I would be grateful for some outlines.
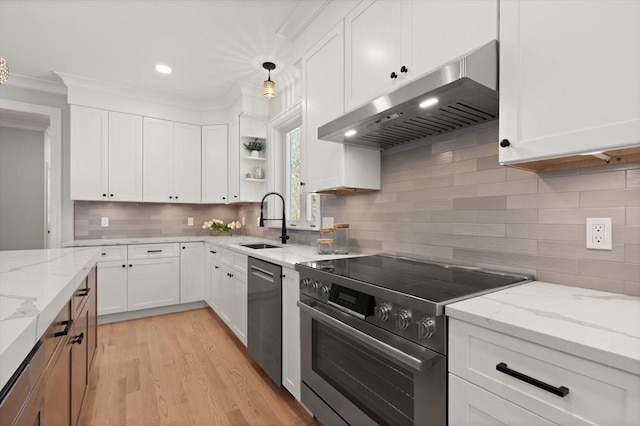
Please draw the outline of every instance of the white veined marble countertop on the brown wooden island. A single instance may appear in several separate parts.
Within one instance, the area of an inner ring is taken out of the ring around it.
[[[0,388],[98,259],[93,247],[0,251]]]

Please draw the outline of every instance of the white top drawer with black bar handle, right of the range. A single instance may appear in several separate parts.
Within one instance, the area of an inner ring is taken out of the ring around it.
[[[640,424],[639,376],[454,318],[449,371],[552,422]],[[512,371],[568,393],[555,395]]]

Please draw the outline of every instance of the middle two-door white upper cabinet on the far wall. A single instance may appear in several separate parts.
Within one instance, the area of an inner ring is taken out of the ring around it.
[[[144,118],[143,200],[199,203],[200,127]]]

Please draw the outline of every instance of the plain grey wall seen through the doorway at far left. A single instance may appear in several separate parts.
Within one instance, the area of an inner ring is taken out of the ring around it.
[[[0,250],[44,248],[44,189],[44,133],[0,127]]]

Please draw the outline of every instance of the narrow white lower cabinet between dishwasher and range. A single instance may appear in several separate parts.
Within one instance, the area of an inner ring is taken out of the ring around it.
[[[282,385],[300,401],[300,273],[282,268]]]

